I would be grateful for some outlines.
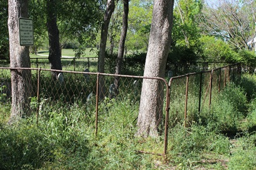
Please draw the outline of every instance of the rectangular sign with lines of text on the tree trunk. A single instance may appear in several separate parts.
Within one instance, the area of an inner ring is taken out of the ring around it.
[[[34,45],[34,29],[32,19],[19,18],[19,44]]]

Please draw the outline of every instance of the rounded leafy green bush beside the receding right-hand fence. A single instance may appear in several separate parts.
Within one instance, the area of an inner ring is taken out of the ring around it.
[[[231,83],[212,99],[210,110],[204,110],[200,118],[203,124],[215,131],[235,133],[240,129],[240,121],[245,118],[246,111],[244,91]]]

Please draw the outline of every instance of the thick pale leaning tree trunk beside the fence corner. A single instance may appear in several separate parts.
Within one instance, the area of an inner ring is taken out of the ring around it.
[[[144,77],[164,77],[170,49],[174,0],[155,0]],[[144,79],[137,120],[139,136],[157,136],[163,95],[159,80]]]

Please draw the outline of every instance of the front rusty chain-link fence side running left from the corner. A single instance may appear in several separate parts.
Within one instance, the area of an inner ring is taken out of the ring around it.
[[[160,81],[162,87],[159,89],[162,92],[159,93],[164,93],[165,98],[160,105],[163,106],[164,115],[167,115],[166,107],[168,106],[166,101],[169,88],[168,82],[164,78],[50,70],[46,68],[0,67],[0,83],[2,87],[0,91],[6,94],[6,101],[4,102],[11,102],[11,72],[16,72],[17,70],[31,71],[31,78],[24,79],[29,80],[29,92],[27,93],[29,93],[31,102],[33,100],[31,111],[36,114],[37,122],[40,120],[41,115],[46,115],[46,112],[54,109],[57,103],[62,103],[62,105],[66,106],[79,103],[86,108],[84,115],[95,114],[95,134],[97,135],[98,126],[104,122],[107,112],[111,110],[106,105],[111,105],[112,100],[120,102],[129,100],[130,108],[135,113],[134,120],[130,123],[135,126],[135,123],[137,123],[135,120],[137,120],[137,114],[139,113],[142,82],[145,79]],[[58,77],[52,77],[52,72],[58,72]],[[22,72],[20,73],[22,75]],[[103,80],[103,85],[101,85],[101,80]],[[117,84],[115,83],[116,80],[118,80]],[[58,108],[55,109],[57,110]],[[128,112],[127,116],[130,116]]]

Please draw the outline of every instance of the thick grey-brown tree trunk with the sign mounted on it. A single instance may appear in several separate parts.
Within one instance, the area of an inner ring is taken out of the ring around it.
[[[19,17],[28,17],[27,0],[8,1],[10,66],[30,68],[29,47],[19,44]],[[12,108],[9,123],[31,115],[29,92],[31,70],[11,70]]]

